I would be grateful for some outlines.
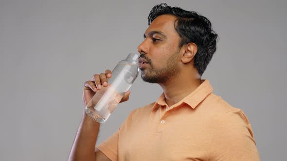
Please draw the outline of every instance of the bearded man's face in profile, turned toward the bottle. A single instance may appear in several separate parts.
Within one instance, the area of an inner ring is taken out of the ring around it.
[[[176,17],[161,15],[144,32],[138,51],[146,64],[140,66],[143,81],[164,83],[179,73],[179,35],[174,28]]]

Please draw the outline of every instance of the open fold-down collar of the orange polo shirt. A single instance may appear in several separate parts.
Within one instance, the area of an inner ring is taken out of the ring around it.
[[[191,108],[195,109],[200,102],[202,102],[209,94],[212,93],[212,91],[213,87],[210,85],[210,82],[208,80],[202,80],[201,84],[197,87],[195,91],[181,99],[178,103],[172,105],[170,108],[177,107],[182,104],[182,102],[184,102]],[[158,98],[158,100],[155,102],[155,104],[150,110],[158,108],[159,105],[167,106],[164,93],[161,94],[161,96]]]

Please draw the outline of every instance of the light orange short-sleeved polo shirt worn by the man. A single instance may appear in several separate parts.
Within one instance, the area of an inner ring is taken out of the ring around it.
[[[203,80],[171,107],[162,94],[97,148],[112,161],[260,161],[247,116],[212,91]]]

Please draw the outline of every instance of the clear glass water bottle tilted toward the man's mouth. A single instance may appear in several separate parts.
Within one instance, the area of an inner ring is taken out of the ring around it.
[[[108,86],[102,86],[91,98],[86,106],[86,113],[100,123],[107,121],[110,114],[119,104],[125,93],[139,74],[140,56],[130,53],[125,60],[120,61],[112,70],[112,77],[108,79]]]

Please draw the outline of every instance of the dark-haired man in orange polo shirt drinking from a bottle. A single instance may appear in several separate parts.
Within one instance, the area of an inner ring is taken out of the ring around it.
[[[214,95],[208,80],[201,80],[216,50],[217,34],[210,21],[162,3],[151,10],[148,22],[138,47],[145,62],[141,76],[158,83],[162,95],[132,111],[95,151],[100,124],[84,113],[70,160],[259,161],[246,115]],[[85,82],[85,105],[110,77],[106,70]]]

